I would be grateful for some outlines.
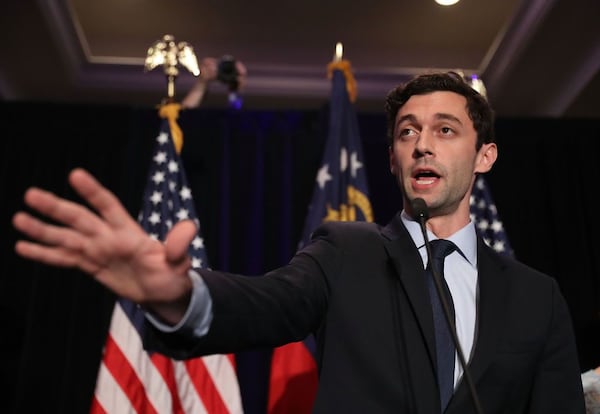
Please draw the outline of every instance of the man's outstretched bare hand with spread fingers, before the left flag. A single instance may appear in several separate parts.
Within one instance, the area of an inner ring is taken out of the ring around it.
[[[118,296],[177,323],[192,289],[187,252],[196,233],[194,223],[177,223],[163,243],[150,238],[87,171],[73,170],[69,182],[93,210],[39,188],[28,189],[25,203],[53,222],[17,212],[13,224],[30,240],[17,241],[16,252],[48,265],[81,269]]]

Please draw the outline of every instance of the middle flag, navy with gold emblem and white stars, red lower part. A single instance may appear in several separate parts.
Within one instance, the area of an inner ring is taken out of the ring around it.
[[[325,221],[373,221],[358,120],[348,89],[355,87],[348,61],[329,65],[332,76],[329,134],[317,172],[300,247]],[[350,87],[348,87],[350,85]],[[313,336],[273,351],[269,414],[308,414],[317,389]]]

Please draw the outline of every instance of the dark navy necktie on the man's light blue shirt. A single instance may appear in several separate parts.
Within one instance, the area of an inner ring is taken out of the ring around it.
[[[442,287],[446,295],[448,307],[451,311],[451,319],[454,320],[454,305],[452,302],[452,295],[448,290],[446,281],[444,280],[444,259],[457,247],[454,243],[449,240],[432,240],[431,241],[431,261],[427,265],[426,273],[429,284],[429,295],[431,297],[431,306],[433,310],[433,322],[435,329],[435,346],[436,346],[436,357],[437,357],[437,375],[438,384],[440,387],[440,401],[442,406],[442,412],[446,409],[448,401],[454,392],[454,355],[456,348],[452,340],[452,334],[450,328],[446,322],[444,316],[444,309],[435,288],[435,282],[433,280],[433,273],[430,267],[435,266],[438,275],[440,276]]]

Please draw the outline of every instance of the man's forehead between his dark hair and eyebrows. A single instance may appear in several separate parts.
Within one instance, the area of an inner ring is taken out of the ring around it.
[[[449,91],[413,95],[400,108],[396,120],[412,115],[417,120],[425,121],[439,114],[452,115],[463,123],[468,122],[467,98]]]

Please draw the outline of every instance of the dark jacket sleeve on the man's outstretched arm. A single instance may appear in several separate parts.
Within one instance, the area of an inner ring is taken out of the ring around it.
[[[329,295],[326,273],[337,248],[317,238],[286,266],[261,276],[198,271],[212,300],[208,333],[162,332],[146,323],[144,346],[176,359],[300,341],[319,328]]]

